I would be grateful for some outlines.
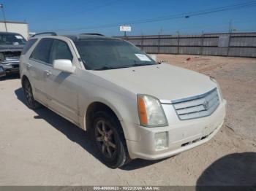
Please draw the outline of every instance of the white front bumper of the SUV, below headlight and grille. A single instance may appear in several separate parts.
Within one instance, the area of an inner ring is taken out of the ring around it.
[[[146,128],[138,126],[140,141],[127,140],[132,159],[158,160],[177,155],[209,141],[222,127],[226,101],[208,117],[178,120],[171,104],[163,106],[169,126]]]

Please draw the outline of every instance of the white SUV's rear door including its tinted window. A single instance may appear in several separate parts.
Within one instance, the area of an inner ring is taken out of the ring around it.
[[[29,58],[29,74],[34,82],[34,97],[47,105],[46,77],[50,74],[50,49],[53,39],[41,39]]]

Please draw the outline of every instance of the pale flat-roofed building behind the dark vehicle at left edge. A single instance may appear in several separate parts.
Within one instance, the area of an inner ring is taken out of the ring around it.
[[[0,31],[18,33],[25,39],[29,39],[29,25],[26,22],[0,20]]]

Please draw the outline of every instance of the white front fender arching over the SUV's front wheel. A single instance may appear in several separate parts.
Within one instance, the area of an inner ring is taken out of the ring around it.
[[[110,109],[115,112],[118,120],[124,125],[133,125],[129,130],[123,128],[126,139],[134,141],[139,140],[139,135],[134,126],[134,123],[139,123],[136,95],[129,92],[129,90],[126,90],[124,87],[119,87],[113,82],[108,82],[98,77],[91,71],[78,69],[78,72],[80,76],[78,106],[81,115],[80,124],[83,125],[82,128],[86,129],[85,116],[89,105],[99,102],[109,106]]]

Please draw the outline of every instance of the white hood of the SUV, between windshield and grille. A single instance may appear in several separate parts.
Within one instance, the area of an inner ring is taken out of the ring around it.
[[[209,77],[167,63],[94,71],[135,94],[153,95],[162,102],[200,95],[217,85]]]

